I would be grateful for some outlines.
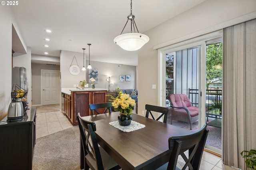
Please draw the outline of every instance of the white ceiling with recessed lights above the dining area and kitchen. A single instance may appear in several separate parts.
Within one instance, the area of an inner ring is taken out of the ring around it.
[[[139,32],[144,33],[203,1],[133,0],[132,14]],[[87,43],[91,43],[91,61],[138,64],[137,51],[125,51],[113,42],[130,14],[130,0],[22,0],[18,3],[11,8],[32,54],[45,55],[47,51],[48,56],[60,57],[61,50],[83,53],[82,48],[86,48],[88,60]],[[46,29],[52,33],[45,32]],[[130,25],[123,33],[128,32]],[[44,47],[46,44],[49,47]]]

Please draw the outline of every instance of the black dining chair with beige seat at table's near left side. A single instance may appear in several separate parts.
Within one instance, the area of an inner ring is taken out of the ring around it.
[[[89,170],[89,168],[92,170],[119,170],[120,166],[101,146],[98,146],[95,123],[85,121],[80,113],[78,113],[77,120],[84,152],[84,170]]]

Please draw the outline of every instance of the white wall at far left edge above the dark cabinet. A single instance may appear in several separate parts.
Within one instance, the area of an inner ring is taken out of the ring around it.
[[[0,6],[0,120],[7,116],[12,91],[12,14]]]

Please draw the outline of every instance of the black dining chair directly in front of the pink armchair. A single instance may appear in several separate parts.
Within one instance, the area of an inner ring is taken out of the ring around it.
[[[162,116],[164,116],[164,121],[163,122],[164,123],[167,122],[167,114],[168,114],[169,108],[167,108],[167,107],[160,107],[160,106],[154,106],[154,105],[145,105],[145,109],[147,110],[147,112],[146,112],[146,117],[147,118],[148,118],[149,113],[150,113],[151,117],[154,120],[158,121]],[[157,119],[155,119],[151,111],[162,113],[162,114]]]

